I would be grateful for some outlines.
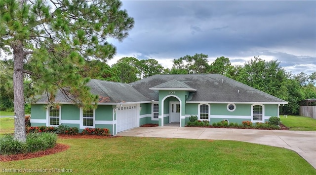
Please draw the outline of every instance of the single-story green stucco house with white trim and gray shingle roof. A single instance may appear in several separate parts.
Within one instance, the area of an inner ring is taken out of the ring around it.
[[[108,128],[115,135],[145,123],[184,127],[191,115],[210,123],[265,122],[287,104],[220,74],[154,75],[130,84],[92,79],[87,85],[99,95],[96,109],[84,111],[61,92],[53,108],[43,95],[32,104],[31,125]]]

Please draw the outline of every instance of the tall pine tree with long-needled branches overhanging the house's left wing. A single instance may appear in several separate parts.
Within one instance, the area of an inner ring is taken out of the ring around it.
[[[25,142],[24,73],[32,88],[50,101],[57,89],[79,106],[91,106],[97,96],[79,75],[85,58],[113,58],[108,37],[122,40],[134,20],[120,10],[118,0],[1,0],[0,49],[13,53],[14,138]]]

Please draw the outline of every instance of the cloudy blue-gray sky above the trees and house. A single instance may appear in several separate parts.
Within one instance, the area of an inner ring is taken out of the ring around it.
[[[278,60],[287,72],[316,71],[316,1],[123,0],[135,20],[117,55],[154,58],[171,67],[174,58],[196,53],[209,63],[224,56],[233,65],[260,56]]]

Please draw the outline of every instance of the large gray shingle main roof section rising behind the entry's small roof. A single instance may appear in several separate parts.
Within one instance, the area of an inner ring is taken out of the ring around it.
[[[172,80],[197,89],[194,94],[191,93],[192,96],[190,95],[187,101],[287,103],[275,96],[220,74],[154,75],[130,83],[130,85],[147,98],[158,101],[158,90],[149,88],[160,87],[161,84]]]

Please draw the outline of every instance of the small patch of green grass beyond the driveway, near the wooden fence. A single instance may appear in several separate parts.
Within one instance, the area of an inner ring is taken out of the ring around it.
[[[280,116],[282,124],[296,131],[316,131],[316,119],[302,116]]]

